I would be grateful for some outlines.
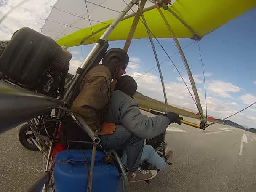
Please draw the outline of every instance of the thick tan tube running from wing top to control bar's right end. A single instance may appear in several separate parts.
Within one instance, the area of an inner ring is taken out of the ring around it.
[[[194,78],[193,78],[193,76],[192,76],[191,70],[190,70],[189,65],[188,65],[188,63],[187,63],[187,59],[186,59],[186,57],[185,57],[185,55],[184,55],[184,53],[183,53],[183,51],[182,51],[182,49],[181,49],[181,46],[180,46],[180,44],[179,44],[179,41],[177,40],[177,38],[176,38],[176,36],[175,36],[173,30],[171,29],[171,26],[170,26],[170,24],[168,23],[167,19],[166,19],[165,16],[163,15],[163,13],[162,13],[160,7],[158,6],[158,4],[156,3],[155,0],[153,0],[153,2],[155,3],[155,6],[157,7],[157,9],[158,9],[160,15],[162,16],[163,20],[165,21],[165,24],[166,24],[166,26],[168,27],[168,30],[169,30],[169,32],[171,33],[171,35],[172,35],[172,37],[173,37],[173,40],[175,41],[175,44],[176,44],[176,46],[177,46],[177,48],[178,48],[178,50],[179,50],[179,53],[180,53],[181,58],[182,58],[182,61],[183,61],[184,65],[185,65],[186,70],[187,70],[187,73],[188,73],[188,75],[189,75],[189,80],[190,80],[191,85],[192,85],[192,90],[193,90],[194,95],[195,95],[195,100],[196,100],[197,107],[198,107],[199,114],[200,114],[201,125],[202,125],[203,127],[205,127],[206,123],[205,123],[205,117],[204,117],[204,115],[203,115],[202,105],[201,105],[201,102],[200,102],[200,99],[199,99],[199,96],[198,96],[198,93],[197,93],[197,88],[196,88],[196,85],[195,85]]]

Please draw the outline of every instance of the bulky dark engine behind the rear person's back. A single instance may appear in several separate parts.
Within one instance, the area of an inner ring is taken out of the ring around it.
[[[0,42],[0,78],[23,88],[61,96],[72,55],[50,37],[28,27]]]

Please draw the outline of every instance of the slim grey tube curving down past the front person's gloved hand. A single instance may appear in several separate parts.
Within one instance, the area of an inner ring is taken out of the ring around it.
[[[152,49],[153,49],[153,52],[154,52],[154,55],[155,55],[155,60],[156,60],[156,62],[157,62],[157,67],[158,67],[158,71],[159,71],[159,75],[160,75],[160,79],[161,79],[161,83],[162,83],[162,87],[163,87],[164,98],[165,98],[165,113],[167,113],[167,112],[168,112],[168,101],[167,101],[167,96],[166,96],[166,92],[165,92],[165,84],[164,84],[164,81],[163,81],[163,75],[162,75],[161,67],[160,67],[160,64],[159,64],[159,61],[158,61],[158,57],[157,57],[157,52],[156,52],[156,50],[155,50],[155,45],[154,45],[154,42],[153,42],[153,40],[152,40],[151,33],[150,33],[149,28],[148,28],[148,26],[147,26],[146,19],[145,19],[145,17],[144,17],[144,14],[143,14],[143,12],[142,12],[141,7],[140,7],[139,4],[138,4],[138,7],[139,7],[139,10],[140,10],[140,12],[141,12],[141,17],[142,17],[142,19],[143,19],[143,22],[144,22],[144,24],[145,24],[145,27],[146,27],[146,29],[147,29],[147,33],[148,33],[148,35],[149,35],[149,40],[150,40],[150,43],[151,43],[151,46],[152,46]],[[166,135],[166,132],[164,132],[163,144],[165,143],[165,135]],[[166,149],[166,148],[164,148],[164,150],[163,150],[163,155],[165,155],[165,149]]]

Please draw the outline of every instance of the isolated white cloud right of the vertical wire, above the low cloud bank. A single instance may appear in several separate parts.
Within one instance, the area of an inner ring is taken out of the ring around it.
[[[222,80],[213,80],[208,84],[208,91],[221,97],[232,97],[229,93],[239,92],[241,91],[241,88]]]

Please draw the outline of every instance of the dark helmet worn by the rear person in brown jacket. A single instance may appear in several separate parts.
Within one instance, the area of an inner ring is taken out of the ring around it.
[[[121,48],[112,48],[109,49],[102,59],[102,64],[107,65],[106,62],[110,61],[113,57],[117,57],[121,61],[123,61],[124,64],[128,64],[129,62],[129,56],[128,54]]]

